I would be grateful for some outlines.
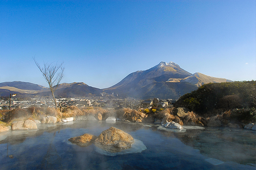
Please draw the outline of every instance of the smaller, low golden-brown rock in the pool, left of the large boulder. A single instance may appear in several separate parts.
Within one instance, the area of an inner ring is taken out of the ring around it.
[[[96,138],[97,136],[86,133],[81,136],[69,138],[69,141],[78,146],[89,146],[95,141]]]

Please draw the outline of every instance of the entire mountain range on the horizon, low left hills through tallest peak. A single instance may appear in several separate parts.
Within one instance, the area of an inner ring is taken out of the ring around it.
[[[105,89],[99,89],[80,83],[59,84],[56,97],[88,97],[101,96],[102,94],[114,94],[120,98],[178,98],[196,90],[205,83],[230,82],[231,80],[214,78],[202,73],[191,74],[173,62],[160,62],[155,67],[144,71],[133,72],[119,83]],[[0,96],[9,93],[20,95],[51,96],[49,88],[27,82],[0,83]]]

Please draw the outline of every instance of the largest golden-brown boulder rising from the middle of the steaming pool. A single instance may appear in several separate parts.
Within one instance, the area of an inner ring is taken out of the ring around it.
[[[103,131],[95,140],[95,144],[114,146],[118,149],[131,148],[134,143],[133,137],[122,130],[110,127]]]

